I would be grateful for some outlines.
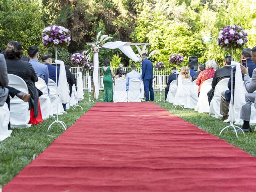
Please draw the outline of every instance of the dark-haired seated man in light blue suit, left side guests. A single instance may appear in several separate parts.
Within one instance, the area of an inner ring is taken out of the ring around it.
[[[28,57],[30,59],[29,62],[32,64],[32,67],[34,68],[36,75],[42,78],[47,85],[48,78],[49,78],[48,67],[38,62],[39,49],[36,46],[31,46],[27,49],[27,51],[28,51]]]

